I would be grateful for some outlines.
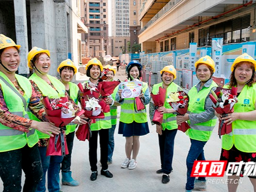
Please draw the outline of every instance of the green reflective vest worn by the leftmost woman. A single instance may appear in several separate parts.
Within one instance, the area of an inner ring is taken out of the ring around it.
[[[2,73],[0,76],[8,81],[17,92],[15,85]],[[18,84],[24,91],[24,99],[26,102],[26,111],[24,109],[24,104],[22,99],[11,89],[9,88],[2,80],[0,80],[0,85],[3,93],[4,101],[9,109],[9,112],[16,114],[20,117],[29,118],[27,111],[29,101],[32,96],[32,85],[30,81],[20,75],[15,75]],[[38,142],[38,135],[35,129],[30,128],[28,133],[23,131],[16,130],[14,128],[6,127],[0,124],[0,152],[11,151],[19,149],[28,144],[29,147],[34,146]]]

